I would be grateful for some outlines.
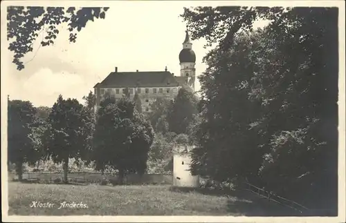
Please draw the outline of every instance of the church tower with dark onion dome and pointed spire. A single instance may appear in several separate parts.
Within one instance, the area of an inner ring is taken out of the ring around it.
[[[180,75],[181,77],[186,77],[188,80],[188,85],[195,91],[195,81],[196,81],[196,55],[192,50],[192,43],[186,30],[185,41],[183,42],[183,50],[179,53],[180,61]]]

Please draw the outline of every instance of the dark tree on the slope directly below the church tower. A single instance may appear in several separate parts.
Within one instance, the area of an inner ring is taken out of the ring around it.
[[[197,100],[194,95],[185,88],[180,88],[167,114],[170,131],[176,134],[186,133],[193,115],[197,112]]]

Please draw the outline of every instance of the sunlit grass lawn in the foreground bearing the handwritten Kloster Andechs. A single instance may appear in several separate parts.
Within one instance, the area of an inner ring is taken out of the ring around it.
[[[100,186],[8,183],[8,215],[289,215],[290,210],[246,192],[210,195],[170,186]],[[30,207],[49,202],[53,207]],[[60,208],[62,202],[86,208]],[[292,213],[291,213],[292,214]]]

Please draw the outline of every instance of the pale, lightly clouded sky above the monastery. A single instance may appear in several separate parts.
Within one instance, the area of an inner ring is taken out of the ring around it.
[[[93,86],[115,67],[119,72],[130,72],[163,71],[167,66],[168,71],[180,75],[179,52],[183,48],[186,23],[179,14],[184,6],[195,4],[117,1],[109,6],[105,19],[86,23],[75,43],[69,43],[69,32],[62,25],[54,46],[39,47],[42,32],[33,52],[23,59],[24,70],[16,70],[11,63],[12,54],[7,50],[4,62],[8,74],[7,95],[10,99],[29,100],[34,106],[52,106],[60,94],[82,102],[82,97],[93,91]],[[219,6],[220,2],[200,1],[199,5]],[[264,23],[258,21],[255,26]],[[205,39],[192,41],[197,76],[206,70],[202,59],[211,48],[203,48],[205,43]],[[197,81],[196,90],[199,88]]]

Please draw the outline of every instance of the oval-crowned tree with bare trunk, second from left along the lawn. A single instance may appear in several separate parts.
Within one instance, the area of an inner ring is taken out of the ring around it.
[[[63,163],[64,182],[68,182],[69,158],[82,157],[88,148],[88,116],[76,99],[63,99],[60,95],[49,115],[50,128],[44,143],[48,155],[55,163]]]

